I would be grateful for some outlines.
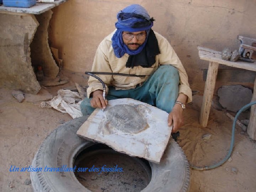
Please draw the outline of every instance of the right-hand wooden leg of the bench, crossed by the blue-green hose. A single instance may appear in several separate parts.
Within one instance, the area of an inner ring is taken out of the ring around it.
[[[256,77],[254,81],[254,92],[251,101],[256,101]],[[256,140],[256,105],[251,106],[250,121],[247,127],[247,133],[251,139]]]

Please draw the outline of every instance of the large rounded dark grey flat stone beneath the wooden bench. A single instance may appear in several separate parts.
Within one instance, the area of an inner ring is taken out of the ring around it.
[[[252,91],[242,85],[222,86],[218,90],[220,104],[229,111],[237,112],[251,102]]]

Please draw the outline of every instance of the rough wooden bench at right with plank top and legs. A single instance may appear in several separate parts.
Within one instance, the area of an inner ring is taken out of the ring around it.
[[[230,62],[227,60],[223,60],[221,57],[221,52],[204,48],[204,47],[198,47],[198,54],[200,59],[209,61],[206,85],[204,87],[203,103],[202,103],[201,113],[199,117],[201,126],[206,127],[208,118],[209,118],[210,107],[212,104],[213,92],[214,92],[219,64],[240,68],[240,69],[256,71],[256,63],[255,62],[249,63],[244,61]],[[254,81],[254,92],[252,96],[252,101],[256,101],[256,78]],[[250,122],[247,127],[247,133],[249,134],[250,138],[256,140],[256,106],[255,105],[251,107]]]

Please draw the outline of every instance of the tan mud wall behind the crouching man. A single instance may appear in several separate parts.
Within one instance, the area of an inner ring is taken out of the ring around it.
[[[50,46],[59,49],[64,69],[90,70],[98,44],[115,29],[116,13],[134,3],[155,18],[153,30],[174,47],[193,90],[204,89],[202,69],[208,68],[197,46],[221,51],[238,48],[238,34],[256,38],[256,0],[68,0],[50,21]]]

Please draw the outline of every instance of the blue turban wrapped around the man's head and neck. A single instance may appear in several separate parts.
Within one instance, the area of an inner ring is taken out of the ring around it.
[[[144,7],[133,4],[117,13],[116,32],[112,37],[112,47],[117,58],[123,57],[125,53],[136,55],[142,51],[148,40],[148,35],[153,26],[153,18],[150,18]],[[123,42],[123,31],[137,32],[146,31],[145,42],[136,50],[130,50]]]

